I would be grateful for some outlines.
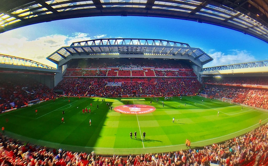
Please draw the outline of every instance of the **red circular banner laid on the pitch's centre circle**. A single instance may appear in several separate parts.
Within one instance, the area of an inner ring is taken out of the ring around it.
[[[120,105],[114,108],[114,111],[120,112],[123,114],[148,114],[155,111],[155,107],[150,105],[140,105],[140,104],[131,104],[131,105]]]

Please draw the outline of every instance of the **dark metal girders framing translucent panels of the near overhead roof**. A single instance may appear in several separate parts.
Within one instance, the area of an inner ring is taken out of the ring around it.
[[[197,8],[196,10],[192,10],[193,12],[191,12],[190,14],[183,13],[183,12],[174,12],[174,11],[167,11],[167,10],[152,9],[152,6],[157,6],[156,4],[154,4],[155,1],[152,1],[152,0],[147,1],[147,3],[131,3],[131,2],[101,3],[99,0],[94,0],[93,5],[96,6],[96,9],[79,10],[79,12],[78,12],[78,10],[65,11],[65,12],[56,12],[57,10],[53,9],[51,7],[52,5],[47,5],[43,1],[37,0],[36,2],[42,4],[44,7],[49,9],[49,11],[52,11],[53,14],[48,14],[48,15],[45,15],[45,16],[38,16],[38,17],[35,17],[35,18],[29,18],[29,19],[22,20],[22,21],[19,21],[17,23],[14,23],[14,24],[10,24],[10,25],[8,25],[8,26],[6,26],[4,28],[0,28],[0,32],[4,32],[4,31],[14,29],[14,28],[17,28],[17,27],[21,27],[21,26],[24,26],[24,25],[30,25],[30,24],[35,24],[35,23],[39,23],[39,22],[46,22],[46,21],[52,21],[52,20],[60,20],[60,19],[66,19],[66,18],[77,18],[77,17],[88,17],[88,16],[120,16],[122,13],[127,13],[128,16],[167,17],[167,18],[178,18],[178,19],[192,20],[192,21],[197,21],[197,20],[200,21],[201,20],[202,22],[206,22],[206,23],[209,23],[209,24],[219,25],[219,26],[222,26],[222,27],[228,27],[230,29],[235,29],[235,30],[241,31],[243,33],[250,34],[252,36],[256,36],[259,39],[264,40],[264,41],[267,42],[266,37],[263,37],[262,35],[258,35],[255,32],[250,31],[248,29],[244,29],[244,28],[241,28],[239,26],[230,24],[230,23],[228,23],[226,21],[225,22],[224,21],[219,21],[219,20],[215,20],[213,18],[208,18],[208,17],[203,17],[203,16],[196,16],[195,14],[192,14],[192,13],[200,12],[200,9],[202,8],[202,6],[204,7],[207,3],[215,3],[216,5],[221,5],[222,4],[222,5],[225,5],[225,6],[232,7],[233,9],[237,9],[240,12],[244,12],[245,14],[247,14],[249,12],[254,13],[253,15],[251,15],[251,17],[253,17],[257,21],[260,21],[263,25],[265,25],[267,27],[268,26],[267,8],[264,9],[263,6],[261,6],[259,3],[257,3],[257,1],[256,2],[255,1],[256,0],[250,1],[251,4],[252,4],[251,6],[255,6],[254,8],[256,8],[256,9],[262,9],[264,11],[263,14],[266,17],[262,16],[262,14],[259,17],[256,17],[256,12],[254,12],[253,9],[252,9],[252,12],[250,11],[251,8],[253,8],[253,7],[249,8],[247,6],[248,4],[250,4],[249,1],[240,1],[240,0],[235,1],[235,2],[230,1],[230,0],[224,0],[224,1],[222,1],[222,0],[202,1],[203,4],[199,5],[198,6],[199,8]],[[262,4],[267,4],[265,2],[265,0],[263,0],[263,1],[264,2]],[[18,6],[26,6],[26,4],[27,5],[29,4],[29,2],[32,3],[33,1],[21,0],[21,1],[14,1],[14,2],[12,2],[12,4],[10,4],[10,3],[5,4],[5,3],[8,3],[8,1],[4,0],[3,1],[4,5],[2,5],[3,6],[2,10],[1,10],[1,7],[0,7],[0,10],[3,13],[5,13],[5,12],[7,12],[7,10],[3,10],[3,9],[9,9],[11,11],[11,9],[15,9],[16,6],[17,7]],[[76,2],[76,1],[72,0],[72,1],[68,1],[68,2]],[[174,3],[174,1],[165,1],[165,2]],[[63,3],[66,3],[66,2],[59,2],[59,3],[55,3],[55,4],[63,4]],[[189,5],[189,3],[185,3],[185,2],[176,2],[176,3]],[[15,6],[13,6],[14,4],[15,4]],[[55,5],[55,4],[53,4],[53,5]],[[143,8],[132,8],[132,7],[124,7],[124,8],[120,8],[120,7],[105,8],[105,7],[102,7],[102,5],[109,5],[109,4],[123,4],[123,5],[135,4],[135,5],[146,5],[146,7],[145,7],[145,9],[143,9]],[[9,7],[7,7],[7,6],[9,6]],[[10,6],[12,6],[12,7],[10,7]],[[90,5],[88,5],[88,6],[90,6]],[[162,5],[162,6],[165,6],[165,5]],[[190,6],[197,6],[197,5],[191,4]],[[68,6],[68,7],[70,8],[70,6]],[[83,5],[75,5],[73,7],[83,7]],[[169,7],[169,6],[166,5],[166,7]],[[183,9],[181,7],[178,7],[178,6],[172,6],[172,8],[174,8],[174,9],[176,9],[176,8],[177,9]],[[59,9],[61,9],[61,8],[59,8]],[[113,10],[111,10],[111,9],[113,9]],[[135,9],[135,12],[133,12],[134,11],[133,9]],[[213,10],[213,9],[210,9],[210,10]],[[146,12],[144,12],[144,11],[146,11]],[[150,11],[150,12],[148,12],[148,11]],[[220,13],[220,11],[217,11],[217,12]],[[144,13],[146,13],[146,14],[144,14]],[[61,17],[59,17],[59,15]],[[219,17],[219,16],[217,15],[217,17]],[[15,17],[15,18],[18,18],[18,17]],[[228,18],[226,20],[228,20]]]

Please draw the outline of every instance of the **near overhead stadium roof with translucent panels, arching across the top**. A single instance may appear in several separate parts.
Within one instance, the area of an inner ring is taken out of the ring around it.
[[[268,42],[268,0],[2,0],[0,33],[90,16],[151,16],[204,22]]]

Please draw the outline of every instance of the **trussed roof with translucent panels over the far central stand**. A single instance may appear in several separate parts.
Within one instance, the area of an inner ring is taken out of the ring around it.
[[[47,57],[50,61],[63,65],[76,58],[168,58],[188,59],[198,66],[213,60],[200,48],[187,43],[159,39],[95,39],[72,43],[61,47]]]

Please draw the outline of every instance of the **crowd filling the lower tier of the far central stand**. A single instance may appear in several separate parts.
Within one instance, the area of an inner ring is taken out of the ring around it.
[[[69,78],[59,82],[54,89],[63,90],[70,96],[121,97],[121,95],[196,95],[201,87],[196,79],[139,78],[135,80],[117,78],[117,81],[122,82],[122,86],[106,86],[107,82],[114,82],[114,80],[107,77]]]

